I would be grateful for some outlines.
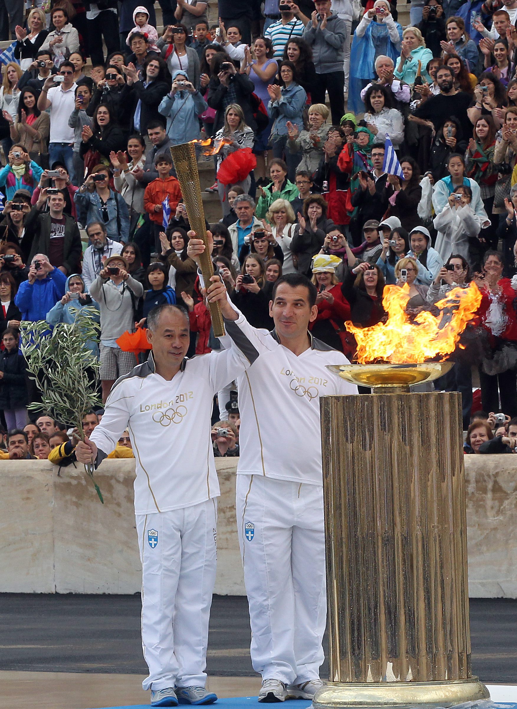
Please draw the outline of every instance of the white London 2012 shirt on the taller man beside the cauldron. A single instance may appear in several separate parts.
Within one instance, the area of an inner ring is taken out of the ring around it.
[[[237,325],[226,323],[226,328],[234,337]],[[259,357],[237,380],[237,474],[322,485],[319,397],[357,393],[356,386],[326,369],[326,364],[348,364],[348,359],[314,337],[297,356],[280,345],[274,330],[252,329],[250,340]]]

